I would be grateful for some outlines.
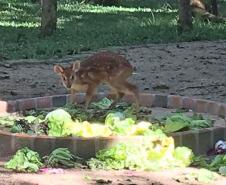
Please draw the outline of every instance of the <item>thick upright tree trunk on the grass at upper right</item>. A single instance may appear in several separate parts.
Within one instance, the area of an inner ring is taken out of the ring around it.
[[[190,0],[179,0],[179,31],[185,32],[192,29],[192,13]]]

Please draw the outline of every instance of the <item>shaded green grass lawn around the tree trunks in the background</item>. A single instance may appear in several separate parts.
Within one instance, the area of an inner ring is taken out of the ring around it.
[[[198,20],[191,33],[179,35],[176,1],[149,2],[125,0],[120,7],[102,7],[59,0],[58,29],[40,38],[38,4],[0,0],[0,56],[63,57],[108,46],[226,39],[226,24]]]

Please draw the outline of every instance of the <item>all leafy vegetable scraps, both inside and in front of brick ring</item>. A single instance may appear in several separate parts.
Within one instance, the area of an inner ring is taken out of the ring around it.
[[[20,149],[5,163],[5,168],[19,172],[45,171],[47,168],[91,168],[91,169],[131,169],[163,170],[175,167],[187,167],[191,164],[226,175],[226,157],[218,155],[210,161],[195,157],[192,150],[174,146],[172,137],[167,133],[207,128],[213,121],[201,114],[187,116],[185,113],[171,113],[160,119],[151,115],[151,109],[142,107],[139,114],[130,104],[118,104],[110,108],[112,101],[107,98],[92,103],[84,112],[80,106],[67,104],[53,110],[31,110],[22,116],[0,117],[0,127],[13,133],[49,135],[55,137],[108,137],[139,136],[137,143],[122,142],[110,148],[100,150],[95,157],[84,161],[73,155],[67,148],[57,148],[48,156],[40,155],[28,148]],[[191,174],[190,179],[207,182],[214,179],[212,172],[201,170]],[[188,179],[188,177],[185,177]]]

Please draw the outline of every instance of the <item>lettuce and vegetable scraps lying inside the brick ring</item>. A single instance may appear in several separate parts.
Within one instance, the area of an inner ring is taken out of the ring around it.
[[[56,137],[148,135],[156,129],[172,133],[213,126],[213,121],[204,119],[201,114],[187,116],[184,113],[171,113],[161,119],[153,119],[150,108],[141,107],[136,115],[133,105],[121,103],[110,108],[111,103],[111,100],[103,98],[92,103],[87,112],[72,104],[53,110],[31,110],[20,117],[0,117],[0,125],[13,133]]]

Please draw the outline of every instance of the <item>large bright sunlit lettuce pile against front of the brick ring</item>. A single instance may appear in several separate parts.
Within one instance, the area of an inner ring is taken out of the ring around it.
[[[190,149],[178,148],[174,152],[172,137],[159,130],[150,131],[141,143],[120,143],[98,151],[96,158],[90,159],[88,165],[92,169],[161,170],[188,166],[192,162]],[[185,152],[185,156],[181,152]]]

